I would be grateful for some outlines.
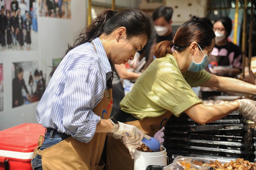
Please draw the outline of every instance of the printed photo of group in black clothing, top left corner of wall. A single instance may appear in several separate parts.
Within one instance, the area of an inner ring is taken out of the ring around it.
[[[0,0],[1,51],[38,49],[35,0]]]

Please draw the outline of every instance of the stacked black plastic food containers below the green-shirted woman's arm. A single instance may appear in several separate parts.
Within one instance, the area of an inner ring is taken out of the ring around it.
[[[246,119],[237,111],[206,125],[196,124],[182,113],[181,117],[172,116],[167,122],[163,145],[171,160],[176,156],[248,160],[248,127]]]

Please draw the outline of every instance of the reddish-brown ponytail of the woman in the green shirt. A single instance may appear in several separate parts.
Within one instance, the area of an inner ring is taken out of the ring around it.
[[[162,41],[154,47],[154,55],[156,58],[165,57],[166,54],[172,54],[171,48],[173,47],[173,41]]]

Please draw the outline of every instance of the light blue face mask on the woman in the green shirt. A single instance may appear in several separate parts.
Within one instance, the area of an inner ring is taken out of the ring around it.
[[[197,44],[199,46],[199,44]],[[202,51],[201,47],[199,46],[200,50]],[[204,52],[202,52],[204,54]],[[203,69],[206,68],[206,66],[208,65],[209,61],[210,61],[210,57],[206,54],[204,54],[204,58],[202,59],[201,63],[195,63],[194,62],[194,58],[193,55],[191,54],[193,61],[190,63],[188,71],[191,72],[198,72],[201,71]]]

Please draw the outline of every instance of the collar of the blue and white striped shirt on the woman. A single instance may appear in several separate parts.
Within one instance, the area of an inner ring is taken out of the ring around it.
[[[112,72],[111,65],[109,64],[109,59],[107,58],[107,54],[105,52],[104,46],[100,39],[97,37],[92,40],[92,43],[95,47],[97,54],[99,55],[100,64],[102,64],[102,68],[105,72]]]

